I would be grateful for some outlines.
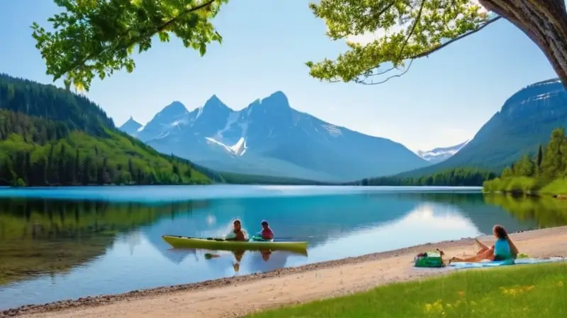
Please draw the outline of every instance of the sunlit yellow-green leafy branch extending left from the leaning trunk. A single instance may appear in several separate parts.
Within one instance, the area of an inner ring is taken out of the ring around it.
[[[321,0],[310,9],[325,21],[332,40],[382,33],[365,44],[348,41],[349,50],[336,60],[307,62],[315,78],[361,84],[384,82],[391,77],[379,75],[407,70],[408,60],[427,56],[450,43],[447,39],[454,41],[500,18],[490,17],[469,0]],[[382,70],[385,63],[389,68]]]

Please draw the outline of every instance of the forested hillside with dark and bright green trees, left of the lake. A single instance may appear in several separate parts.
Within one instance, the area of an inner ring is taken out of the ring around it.
[[[86,97],[0,75],[0,185],[206,184],[220,178],[199,170],[118,131]]]

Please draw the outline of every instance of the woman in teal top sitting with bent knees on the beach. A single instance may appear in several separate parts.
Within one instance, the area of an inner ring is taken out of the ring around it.
[[[451,258],[451,262],[505,261],[507,259],[515,259],[518,255],[518,248],[512,242],[503,226],[495,225],[493,233],[496,237],[493,246],[489,248],[475,238],[475,243],[478,245],[476,255],[469,258],[454,257]]]

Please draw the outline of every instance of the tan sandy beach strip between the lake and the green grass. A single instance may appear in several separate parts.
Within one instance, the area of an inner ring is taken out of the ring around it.
[[[525,231],[511,237],[520,252],[530,257],[567,256],[567,226]],[[491,244],[493,238],[485,236],[481,241]],[[412,267],[416,253],[434,248],[444,251],[447,258],[475,252],[473,239],[463,238],[270,273],[24,306],[0,312],[0,317],[240,317],[270,307],[453,272],[448,268]]]

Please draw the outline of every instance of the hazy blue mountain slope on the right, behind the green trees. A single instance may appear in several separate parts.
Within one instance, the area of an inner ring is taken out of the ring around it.
[[[481,168],[498,172],[522,155],[533,155],[549,141],[551,131],[567,126],[567,92],[558,78],[524,86],[508,97],[466,146],[451,158],[402,172],[421,177],[449,168]]]

